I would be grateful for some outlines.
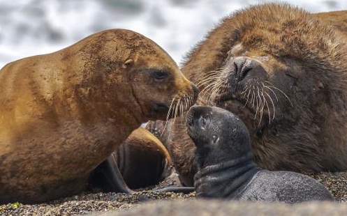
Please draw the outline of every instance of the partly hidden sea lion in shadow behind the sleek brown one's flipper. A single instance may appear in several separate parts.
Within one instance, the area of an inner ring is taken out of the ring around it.
[[[111,157],[131,190],[158,185],[170,176],[173,167],[165,146],[154,134],[142,127],[134,130]],[[104,192],[117,191],[117,188],[112,187],[114,184],[105,179],[107,173],[104,173],[103,166],[105,164],[94,169],[94,179],[89,183]]]

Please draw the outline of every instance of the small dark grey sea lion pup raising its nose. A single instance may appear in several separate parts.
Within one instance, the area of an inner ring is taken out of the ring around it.
[[[291,171],[267,171],[253,161],[246,125],[226,109],[191,107],[186,114],[188,134],[196,146],[198,197],[251,201],[332,201],[318,181]]]

